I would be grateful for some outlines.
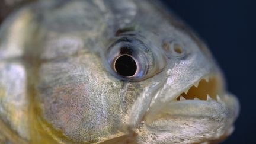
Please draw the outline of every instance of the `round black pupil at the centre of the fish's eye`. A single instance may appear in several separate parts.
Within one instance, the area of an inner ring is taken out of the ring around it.
[[[114,67],[121,76],[133,76],[137,71],[137,65],[132,56],[122,55],[117,58]]]

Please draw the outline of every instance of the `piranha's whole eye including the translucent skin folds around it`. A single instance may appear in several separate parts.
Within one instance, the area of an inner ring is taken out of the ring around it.
[[[165,60],[149,41],[133,35],[122,35],[105,52],[107,70],[124,81],[142,81],[160,72]]]

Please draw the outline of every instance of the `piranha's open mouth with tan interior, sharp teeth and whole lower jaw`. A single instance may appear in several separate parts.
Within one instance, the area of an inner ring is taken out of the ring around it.
[[[193,139],[198,135],[200,138],[193,142],[196,143],[222,140],[230,135],[239,103],[225,91],[222,75],[216,74],[201,76],[153,109],[143,118],[143,132],[148,132],[149,136],[158,133],[159,137],[169,133],[172,138],[175,133],[177,139]]]

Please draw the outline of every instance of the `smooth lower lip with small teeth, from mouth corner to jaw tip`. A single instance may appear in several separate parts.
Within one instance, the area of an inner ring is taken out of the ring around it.
[[[239,114],[239,103],[232,94],[217,95],[216,100],[207,97],[207,100],[194,98],[193,100],[172,100],[159,110],[159,113],[147,113],[143,119],[146,123],[153,123],[159,119],[169,119],[174,116],[210,118],[212,120],[228,119],[233,123]]]

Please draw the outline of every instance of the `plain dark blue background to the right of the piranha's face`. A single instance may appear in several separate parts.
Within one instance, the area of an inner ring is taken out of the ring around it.
[[[165,0],[210,47],[241,112],[224,143],[256,143],[256,5],[251,0]]]

